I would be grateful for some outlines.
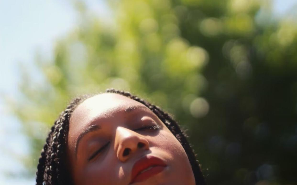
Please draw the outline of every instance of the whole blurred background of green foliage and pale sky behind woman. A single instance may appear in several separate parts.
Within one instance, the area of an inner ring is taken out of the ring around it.
[[[111,87],[174,115],[207,184],[297,184],[296,12],[296,0],[0,1],[0,184],[34,184],[68,101]]]

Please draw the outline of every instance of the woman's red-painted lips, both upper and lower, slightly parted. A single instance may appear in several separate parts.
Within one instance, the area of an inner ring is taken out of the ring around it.
[[[145,181],[151,176],[157,175],[158,173],[163,171],[166,166],[167,164],[159,157],[155,157],[151,155],[142,157],[140,160],[136,161],[136,163],[133,165],[132,173],[131,173],[131,181],[129,184]],[[150,168],[150,169],[140,173],[141,171],[147,168]]]

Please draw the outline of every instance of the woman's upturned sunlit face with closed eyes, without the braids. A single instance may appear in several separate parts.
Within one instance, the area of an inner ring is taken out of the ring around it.
[[[119,94],[93,96],[74,110],[67,156],[75,185],[195,184],[175,136],[149,108]]]

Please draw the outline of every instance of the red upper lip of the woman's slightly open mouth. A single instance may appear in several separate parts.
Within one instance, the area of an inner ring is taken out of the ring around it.
[[[133,165],[132,173],[131,173],[131,181],[129,184],[132,184],[136,176],[146,168],[149,168],[151,166],[167,166],[167,164],[160,159],[159,157],[155,157],[152,155],[144,156],[140,158],[136,163]]]

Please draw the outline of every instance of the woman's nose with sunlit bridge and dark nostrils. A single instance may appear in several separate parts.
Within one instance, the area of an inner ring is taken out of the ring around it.
[[[127,128],[118,127],[115,137],[116,155],[122,162],[127,161],[138,150],[148,150],[149,141],[142,135]]]

